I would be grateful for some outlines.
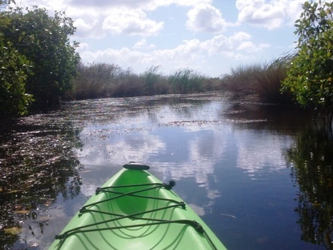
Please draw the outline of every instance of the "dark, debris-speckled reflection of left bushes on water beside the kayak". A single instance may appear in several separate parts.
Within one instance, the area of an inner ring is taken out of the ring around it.
[[[51,117],[20,119],[1,134],[1,249],[39,248],[50,205],[59,193],[68,200],[80,191],[75,132],[48,124]]]

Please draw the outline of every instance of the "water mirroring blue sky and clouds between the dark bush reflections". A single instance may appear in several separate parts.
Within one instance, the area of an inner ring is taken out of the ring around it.
[[[95,189],[123,164],[137,161],[164,182],[175,179],[176,193],[229,249],[306,249],[295,214],[298,189],[284,152],[311,119],[289,111],[204,94],[78,101],[26,118],[26,124],[47,128],[45,134],[55,139],[55,124],[70,129],[64,136],[75,137],[68,143],[80,163],[75,166],[82,180],[79,193],[67,200],[59,193],[45,207],[49,226],[41,244],[47,248]]]

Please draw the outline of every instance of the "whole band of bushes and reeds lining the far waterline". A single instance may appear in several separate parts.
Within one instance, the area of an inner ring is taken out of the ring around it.
[[[0,6],[11,2],[0,0]],[[52,110],[61,101],[224,91],[231,101],[297,103],[316,110],[332,130],[333,3],[306,1],[302,8],[295,21],[297,52],[240,65],[217,78],[190,68],[167,75],[160,66],[134,73],[116,64],[84,64],[76,52],[79,43],[69,38],[74,21],[65,13],[6,8],[0,12],[0,117]]]

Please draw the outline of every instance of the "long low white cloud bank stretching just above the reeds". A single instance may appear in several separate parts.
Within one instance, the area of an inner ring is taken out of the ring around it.
[[[149,66],[160,65],[162,70],[170,72],[188,67],[201,70],[206,67],[210,57],[217,54],[235,60],[253,59],[257,52],[263,52],[270,47],[266,43],[256,45],[251,41],[251,36],[245,32],[235,33],[231,37],[220,34],[206,41],[185,40],[176,47],[164,50],[150,47],[147,52],[145,51],[147,46],[150,45],[143,38],[135,43],[132,49],[129,47],[123,47],[120,50],[109,48],[96,52],[85,51],[80,54],[82,61],[89,63],[103,61],[125,68],[134,66],[139,72]]]

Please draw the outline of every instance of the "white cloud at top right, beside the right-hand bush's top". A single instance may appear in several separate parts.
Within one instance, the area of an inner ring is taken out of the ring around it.
[[[237,0],[238,22],[249,22],[266,29],[276,29],[294,22],[300,15],[303,0]]]

